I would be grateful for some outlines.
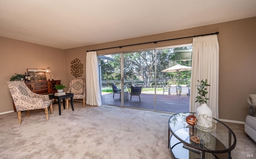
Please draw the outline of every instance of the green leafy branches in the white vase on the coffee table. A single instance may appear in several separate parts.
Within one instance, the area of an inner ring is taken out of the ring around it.
[[[205,81],[203,81],[203,79],[201,81],[197,80],[198,83],[200,83],[200,85],[196,85],[197,90],[198,90],[198,96],[196,96],[196,102],[199,102],[200,104],[207,104],[207,100],[209,100],[209,98],[206,98],[205,95],[208,93],[206,86],[211,86],[209,84],[207,84],[207,79]]]

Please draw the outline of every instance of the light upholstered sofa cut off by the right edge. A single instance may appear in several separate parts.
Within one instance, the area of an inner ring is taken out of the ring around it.
[[[250,106],[248,107],[248,115],[245,119],[244,131],[256,142],[256,94],[248,95],[247,101]]]

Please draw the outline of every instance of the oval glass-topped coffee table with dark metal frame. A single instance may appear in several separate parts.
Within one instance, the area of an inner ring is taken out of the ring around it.
[[[211,132],[188,125],[186,117],[194,114],[183,112],[170,117],[168,148],[170,147],[172,155],[176,159],[231,159],[231,151],[236,147],[234,132],[226,124],[214,118],[216,129]]]

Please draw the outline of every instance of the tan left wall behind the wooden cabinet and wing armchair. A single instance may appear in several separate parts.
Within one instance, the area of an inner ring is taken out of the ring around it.
[[[0,113],[12,111],[12,98],[7,82],[17,74],[24,74],[28,68],[52,68],[52,79],[66,84],[64,50],[0,37]],[[50,74],[47,74],[50,78]]]

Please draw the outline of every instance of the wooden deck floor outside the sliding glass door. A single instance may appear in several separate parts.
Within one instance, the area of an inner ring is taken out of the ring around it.
[[[115,94],[113,99],[113,93],[103,94],[101,96],[102,104],[105,105],[116,105],[121,106],[119,100],[120,94]],[[156,94],[156,109],[154,106],[154,94],[142,93],[140,100],[138,96],[132,96],[130,101],[130,94],[128,95],[129,100],[124,101],[124,107],[133,107],[138,109],[149,109],[155,111],[163,111],[168,113],[179,113],[189,111],[189,97],[182,95],[161,95]]]

